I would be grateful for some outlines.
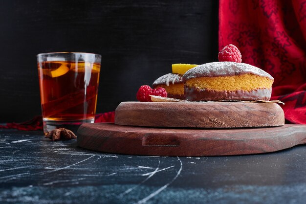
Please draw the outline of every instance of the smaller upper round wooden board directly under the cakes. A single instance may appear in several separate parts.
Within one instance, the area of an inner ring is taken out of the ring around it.
[[[284,125],[275,103],[122,102],[115,124],[147,127],[240,128]]]

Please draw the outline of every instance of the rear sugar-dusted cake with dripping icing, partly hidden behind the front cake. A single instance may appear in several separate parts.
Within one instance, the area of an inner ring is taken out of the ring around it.
[[[167,97],[170,98],[184,98],[184,83],[182,75],[168,73],[153,82],[153,88],[162,87],[167,91]]]

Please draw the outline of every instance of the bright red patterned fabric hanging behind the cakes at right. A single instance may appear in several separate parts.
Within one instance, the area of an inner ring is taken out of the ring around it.
[[[306,0],[219,0],[219,50],[228,44],[274,77],[287,122],[306,124]]]

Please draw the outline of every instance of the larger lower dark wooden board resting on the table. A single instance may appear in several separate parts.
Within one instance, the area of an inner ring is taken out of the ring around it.
[[[240,129],[166,129],[93,123],[77,133],[80,147],[129,155],[223,156],[274,152],[306,143],[306,125]]]

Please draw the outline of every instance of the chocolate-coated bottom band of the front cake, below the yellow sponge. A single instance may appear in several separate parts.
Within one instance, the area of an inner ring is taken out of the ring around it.
[[[188,101],[216,101],[216,100],[240,100],[240,101],[256,101],[270,100],[271,89],[258,89],[253,91],[212,91],[198,90],[185,87],[185,100]]]

